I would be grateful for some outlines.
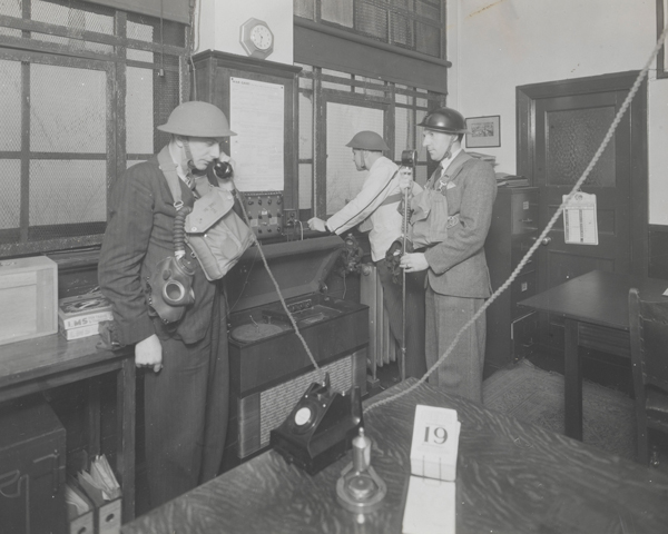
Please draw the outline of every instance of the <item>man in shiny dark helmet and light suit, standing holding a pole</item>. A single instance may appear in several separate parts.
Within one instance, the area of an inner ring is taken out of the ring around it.
[[[439,228],[430,228],[433,241],[423,251],[404,255],[400,265],[406,273],[428,273],[425,347],[431,368],[491,295],[483,246],[497,180],[488,162],[462,150],[466,128],[461,113],[439,108],[419,126],[424,127],[422,146],[439,167],[416,200],[429,205],[426,220]],[[409,175],[402,175],[400,181],[402,188],[411,186]],[[482,403],[485,328],[482,315],[430,376],[430,383]]]

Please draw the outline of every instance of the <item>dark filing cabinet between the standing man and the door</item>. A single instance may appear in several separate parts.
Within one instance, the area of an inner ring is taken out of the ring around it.
[[[538,188],[500,187],[484,245],[492,289],[513,273],[538,237]],[[487,310],[485,376],[533,354],[537,315],[518,306],[536,294],[537,259],[530,258]]]

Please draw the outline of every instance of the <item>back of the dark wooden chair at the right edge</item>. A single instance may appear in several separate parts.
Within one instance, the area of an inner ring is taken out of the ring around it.
[[[668,392],[668,297],[644,299],[631,288],[629,328],[636,395],[647,385]]]

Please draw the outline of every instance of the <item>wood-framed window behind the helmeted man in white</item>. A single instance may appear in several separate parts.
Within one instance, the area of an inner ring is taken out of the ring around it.
[[[401,162],[403,150],[418,150],[416,181],[424,185],[435,164],[429,161],[418,125],[445,103],[445,95],[345,72],[299,65],[299,209],[301,220],[333,215],[362,189],[366,171],[357,171],[345,145],[360,130],[380,134]]]

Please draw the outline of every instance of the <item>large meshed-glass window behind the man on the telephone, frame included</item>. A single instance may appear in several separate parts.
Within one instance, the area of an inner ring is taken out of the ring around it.
[[[107,194],[165,142],[185,24],[77,0],[0,1],[0,257],[101,243]]]

